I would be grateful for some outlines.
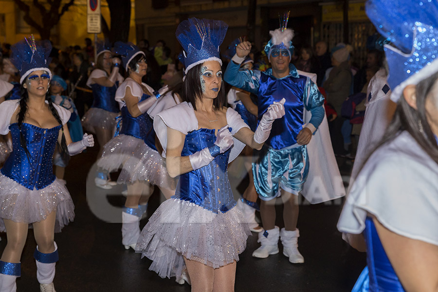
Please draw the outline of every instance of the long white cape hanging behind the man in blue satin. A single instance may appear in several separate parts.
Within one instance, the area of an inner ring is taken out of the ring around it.
[[[316,84],[316,74],[298,71]],[[311,112],[304,108],[304,122],[309,123]],[[319,125],[307,145],[309,175],[301,193],[311,204],[334,200],[345,196],[345,187],[331,146],[327,117]]]

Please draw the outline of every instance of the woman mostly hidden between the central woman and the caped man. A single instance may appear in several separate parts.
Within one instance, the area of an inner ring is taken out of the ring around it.
[[[246,37],[239,37],[235,39],[229,46],[224,56],[231,62],[231,59],[234,55],[236,55],[236,47],[237,45],[246,40]],[[241,71],[245,70],[253,70],[254,61],[246,56],[245,60],[240,64]],[[254,96],[254,94],[253,94]],[[237,88],[233,86],[227,94],[227,101],[234,110],[236,110],[243,121],[251,128],[252,131],[256,130],[257,127],[257,105],[253,100],[253,96],[248,91]],[[254,179],[252,173],[252,160],[253,155],[257,155],[256,151],[251,149],[250,147],[245,147],[242,151],[244,165],[249,174],[249,183],[248,187],[243,192],[242,198],[237,201],[237,207],[245,216],[246,221],[248,222],[251,231],[253,232],[262,232],[263,228],[261,228],[256,222],[256,211],[260,211],[260,207],[257,204],[257,192],[256,187],[254,186]]]

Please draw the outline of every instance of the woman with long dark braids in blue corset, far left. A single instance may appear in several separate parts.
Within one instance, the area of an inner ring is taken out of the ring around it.
[[[55,291],[54,232],[74,217],[72,198],[52,171],[55,145],[58,142],[68,156],[94,143],[87,134],[79,142],[71,141],[66,124],[70,112],[53,104],[47,93],[51,49],[50,41],[36,43],[34,37],[12,47],[12,61],[21,77],[21,99],[0,105],[0,134],[11,132],[14,149],[0,175],[0,231],[6,231],[8,240],[0,260],[1,292],[16,291],[29,223],[37,241],[34,257],[40,291]]]

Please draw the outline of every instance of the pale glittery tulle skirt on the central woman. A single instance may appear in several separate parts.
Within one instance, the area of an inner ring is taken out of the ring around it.
[[[160,277],[180,275],[183,256],[212,268],[239,260],[251,232],[234,207],[215,214],[194,203],[169,199],[150,217],[135,248],[153,262],[149,270]]]

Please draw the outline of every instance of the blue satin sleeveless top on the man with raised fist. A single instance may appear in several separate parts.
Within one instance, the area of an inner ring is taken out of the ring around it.
[[[307,77],[288,76],[277,79],[262,73],[258,89],[258,119],[268,110],[274,101],[286,99],[284,109],[286,114],[272,125],[271,135],[265,142],[274,149],[282,149],[296,143],[296,136],[303,129],[303,92]]]

